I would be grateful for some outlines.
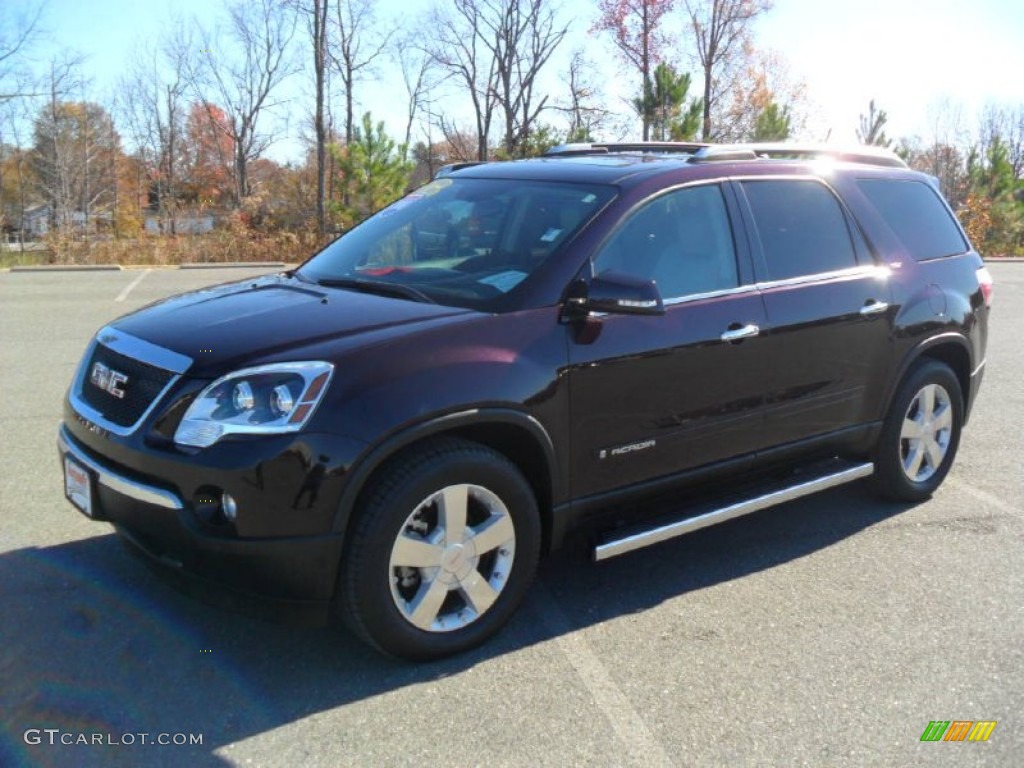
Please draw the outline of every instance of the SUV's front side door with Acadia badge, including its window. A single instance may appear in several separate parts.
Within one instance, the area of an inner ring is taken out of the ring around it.
[[[574,497],[761,446],[767,317],[731,194],[713,183],[649,200],[594,256],[595,274],[653,280],[666,312],[568,326]]]

